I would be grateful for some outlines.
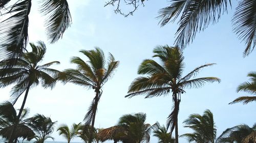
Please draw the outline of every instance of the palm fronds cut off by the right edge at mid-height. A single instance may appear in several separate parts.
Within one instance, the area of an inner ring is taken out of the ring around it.
[[[251,82],[244,82],[240,84],[237,89],[237,92],[244,91],[249,94],[256,95],[256,72],[251,72],[247,76],[250,77],[249,80]],[[247,104],[253,101],[256,101],[256,96],[242,96],[230,102],[229,104],[238,103],[238,102],[243,102],[244,104]]]

